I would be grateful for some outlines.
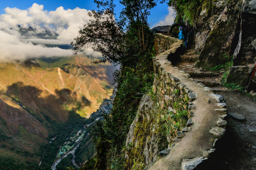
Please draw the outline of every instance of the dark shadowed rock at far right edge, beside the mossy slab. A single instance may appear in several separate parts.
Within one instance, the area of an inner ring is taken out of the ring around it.
[[[247,86],[256,60],[256,1],[244,0],[241,12],[241,31],[234,52],[234,64],[227,82]]]

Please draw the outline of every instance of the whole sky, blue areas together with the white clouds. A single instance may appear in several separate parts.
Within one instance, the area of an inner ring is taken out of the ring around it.
[[[79,30],[84,28],[91,17],[88,10],[97,7],[93,0],[0,0],[0,61],[17,60],[36,57],[70,56],[70,49],[47,47],[44,44],[70,44],[79,36]],[[119,0],[114,0],[117,14],[122,9]],[[8,7],[8,8],[7,8]],[[79,7],[79,8],[76,8]],[[6,9],[4,11],[4,9]],[[150,27],[171,25],[175,12],[167,4],[158,4],[151,10],[148,18]],[[34,30],[23,35],[19,26]],[[56,33],[57,37],[42,38],[45,30]],[[35,45],[39,44],[39,45]],[[15,50],[13,50],[15,49]],[[83,50],[86,56],[101,57],[92,47]]]

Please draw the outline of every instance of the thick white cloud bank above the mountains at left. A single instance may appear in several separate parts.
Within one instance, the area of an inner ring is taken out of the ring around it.
[[[48,12],[43,5],[36,3],[27,10],[6,7],[4,11],[5,14],[0,15],[1,62],[70,56],[70,49],[49,47],[49,44],[70,44],[90,19],[86,9],[65,10],[60,6]],[[101,55],[90,47],[84,53],[95,57]]]

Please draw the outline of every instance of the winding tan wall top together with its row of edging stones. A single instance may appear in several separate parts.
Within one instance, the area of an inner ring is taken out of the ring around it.
[[[225,132],[225,129],[217,125],[217,121],[226,113],[225,109],[220,110],[218,106],[218,103],[224,102],[223,98],[214,95],[212,89],[205,88],[202,84],[191,80],[190,75],[186,75],[186,72],[178,67],[173,67],[167,59],[167,56],[173,54],[181,46],[181,43],[177,40],[169,50],[159,54],[155,61],[160,63],[159,68],[162,67],[163,70],[178,78],[182,84],[197,94],[197,98],[193,101],[196,106],[193,109],[194,114],[189,119],[193,124],[191,123],[191,130],[185,132],[185,136],[180,142],[177,141],[167,156],[160,158],[153,166],[149,167],[151,170],[193,169],[199,163],[207,160],[208,154],[214,151],[214,142]],[[210,102],[208,103],[205,98]]]

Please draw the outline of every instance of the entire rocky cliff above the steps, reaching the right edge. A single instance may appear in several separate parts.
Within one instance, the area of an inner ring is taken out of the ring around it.
[[[256,61],[255,10],[254,0],[235,4],[216,1],[211,14],[202,7],[195,20],[195,51],[200,54],[200,65],[211,67],[233,58],[228,83],[247,86],[252,75]]]

